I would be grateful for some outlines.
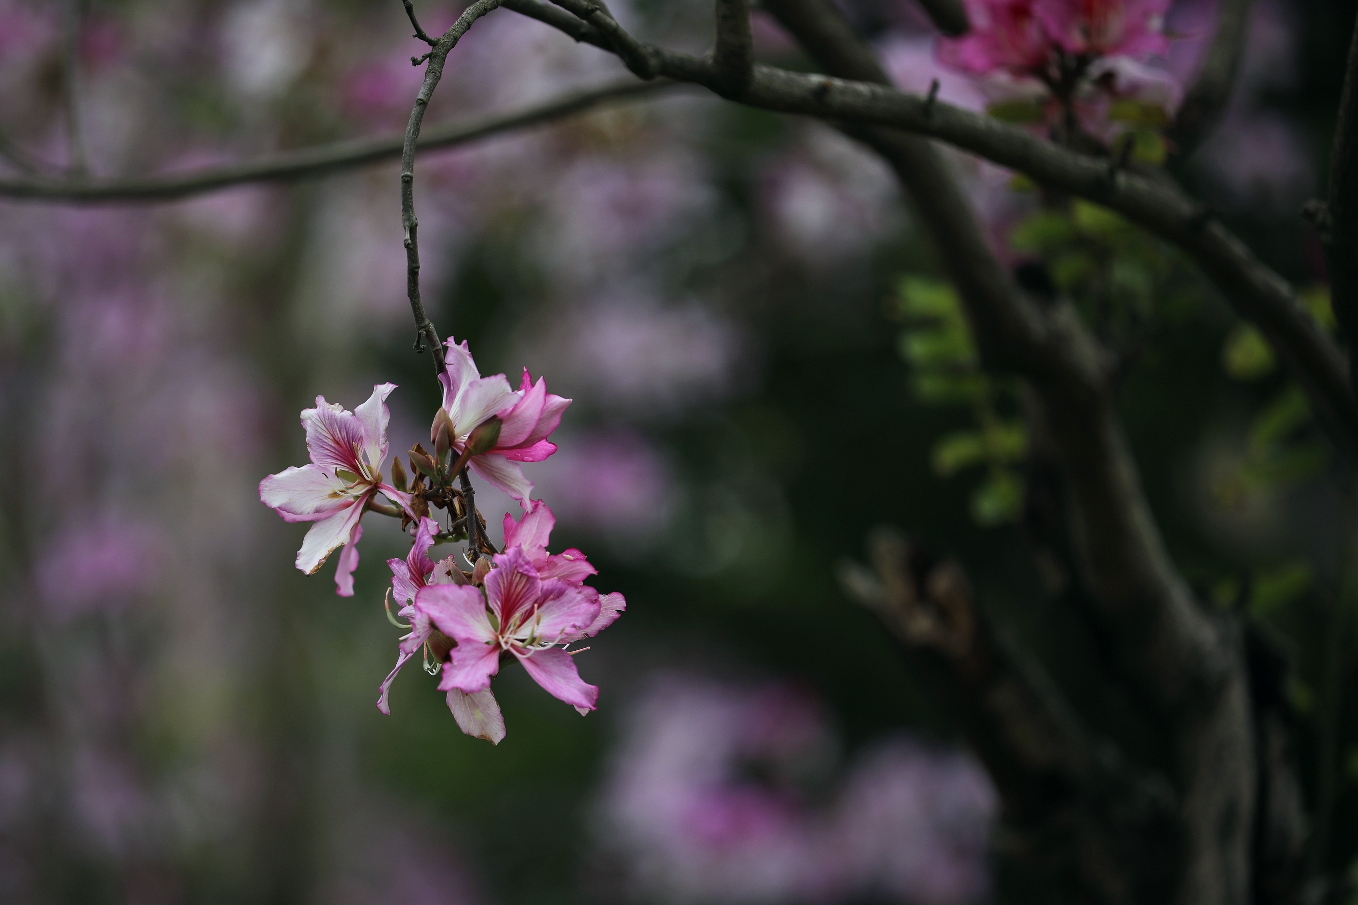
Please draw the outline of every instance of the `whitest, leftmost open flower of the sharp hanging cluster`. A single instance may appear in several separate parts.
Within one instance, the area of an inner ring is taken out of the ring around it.
[[[395,384],[372,388],[368,402],[354,411],[316,396],[315,408],[301,411],[311,461],[293,465],[259,482],[259,501],[284,521],[315,522],[297,551],[297,569],[314,575],[340,547],[337,593],[353,594],[353,570],[359,564],[359,520],[373,494],[410,507],[410,497],[382,480],[387,459],[387,396]]]

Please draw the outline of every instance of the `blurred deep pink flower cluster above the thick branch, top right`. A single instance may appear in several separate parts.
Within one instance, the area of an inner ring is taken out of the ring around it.
[[[994,109],[1111,141],[1164,125],[1179,81],[1146,65],[1168,54],[1169,0],[966,0],[971,31],[940,38],[940,62],[982,76]],[[1031,111],[1031,117],[1028,113]]]

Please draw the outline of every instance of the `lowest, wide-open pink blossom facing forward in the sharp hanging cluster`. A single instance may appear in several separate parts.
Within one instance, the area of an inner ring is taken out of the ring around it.
[[[583,583],[595,570],[579,551],[546,552],[553,521],[540,501],[530,503],[521,522],[507,520],[513,531],[507,531],[505,552],[494,556],[483,588],[425,583],[416,590],[410,615],[416,628],[402,650],[420,631],[436,630],[455,642],[443,665],[440,691],[483,701],[479,696],[490,695],[501,657],[512,655],[553,696],[581,714],[595,708],[599,688],[580,678],[565,647],[612,624],[626,601],[622,594],[600,596]],[[428,620],[428,630],[420,619]],[[498,715],[497,707],[494,712]],[[466,726],[463,731],[469,731]]]

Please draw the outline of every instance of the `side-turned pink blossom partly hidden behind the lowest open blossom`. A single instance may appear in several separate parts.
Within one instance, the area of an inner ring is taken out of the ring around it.
[[[439,522],[432,518],[421,518],[416,531],[414,544],[405,559],[388,559],[391,567],[391,589],[395,592],[397,604],[401,605],[399,616],[410,620],[410,634],[401,639],[397,654],[397,665],[383,680],[378,695],[378,710],[390,715],[391,707],[388,696],[391,684],[397,680],[397,673],[406,662],[426,649],[426,658],[432,655],[433,662],[443,661],[452,649],[452,639],[440,632],[429,620],[428,613],[414,606],[416,594],[428,585],[447,585],[467,582],[467,577],[456,567],[452,556],[440,563],[429,559],[429,548],[439,533]],[[475,693],[466,693],[460,689],[445,689],[448,710],[452,711],[458,727],[469,735],[485,738],[498,745],[505,737],[505,722],[500,714],[500,704],[496,703],[490,689]]]

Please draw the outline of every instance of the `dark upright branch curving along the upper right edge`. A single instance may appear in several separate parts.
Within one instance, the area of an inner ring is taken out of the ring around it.
[[[1358,23],[1348,47],[1344,91],[1329,152],[1329,191],[1320,231],[1329,271],[1329,297],[1350,349],[1358,349]],[[1354,366],[1354,361],[1350,361]],[[1351,374],[1358,392],[1358,370]]]

